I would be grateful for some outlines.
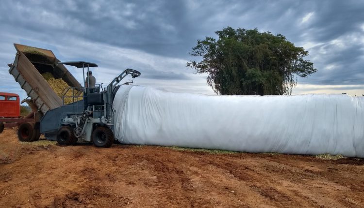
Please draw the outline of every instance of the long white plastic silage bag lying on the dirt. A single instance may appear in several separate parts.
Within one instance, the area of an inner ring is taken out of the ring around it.
[[[364,158],[364,98],[342,94],[225,96],[121,86],[124,144]]]

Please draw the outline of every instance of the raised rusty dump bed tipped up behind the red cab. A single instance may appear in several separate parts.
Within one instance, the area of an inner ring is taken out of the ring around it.
[[[60,61],[51,50],[19,44],[14,46],[17,54],[14,63],[10,65],[9,73],[27,92],[42,114],[63,104],[60,96],[50,87],[42,74],[50,73],[55,79],[61,78],[69,87],[82,88],[65,66],[56,65]]]

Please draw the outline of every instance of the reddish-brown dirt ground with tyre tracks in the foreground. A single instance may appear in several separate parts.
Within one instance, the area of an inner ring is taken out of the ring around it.
[[[364,160],[59,147],[0,134],[0,207],[363,207]]]

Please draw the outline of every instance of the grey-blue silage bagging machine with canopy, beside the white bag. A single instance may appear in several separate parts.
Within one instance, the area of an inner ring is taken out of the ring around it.
[[[60,62],[59,64],[82,68],[83,74],[85,67],[88,74],[90,67],[97,66],[95,63],[84,61]],[[110,147],[115,141],[113,101],[121,86],[118,84],[128,74],[135,78],[140,75],[140,72],[127,69],[114,78],[106,89],[99,85],[92,93],[88,87],[83,88],[83,95],[75,94],[74,87],[65,89],[65,93],[72,91],[70,96],[72,99],[77,100],[82,96],[83,100],[49,110],[40,121],[40,132],[47,138],[56,137],[61,145],[75,145],[78,141],[82,141],[92,142],[96,147]],[[68,96],[63,96],[63,99],[66,97]]]

